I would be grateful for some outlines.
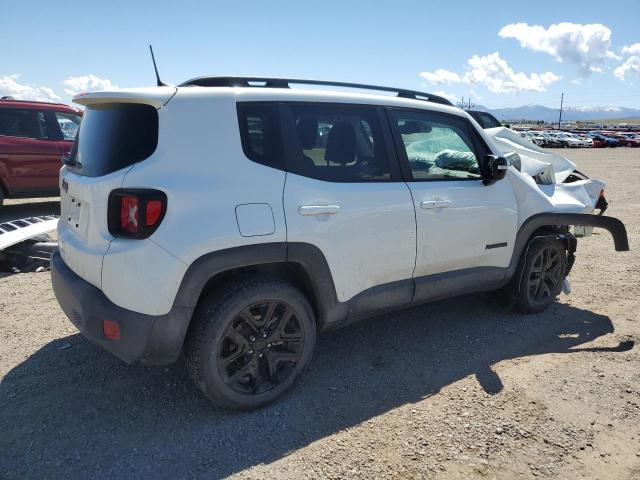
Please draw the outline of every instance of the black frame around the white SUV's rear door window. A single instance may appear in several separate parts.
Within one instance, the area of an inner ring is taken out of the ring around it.
[[[240,103],[240,102],[238,102]],[[266,103],[266,102],[263,102]],[[290,159],[295,158],[297,153],[300,152],[300,144],[298,137],[296,135],[296,129],[293,120],[293,113],[291,107],[294,106],[314,106],[314,107],[339,107],[339,108],[366,108],[373,110],[376,114],[378,122],[380,124],[380,129],[382,131],[382,141],[384,143],[384,152],[387,159],[387,164],[389,166],[389,179],[381,179],[381,180],[361,180],[361,181],[333,181],[333,180],[324,180],[315,177],[307,177],[305,175],[301,175],[299,173],[291,172],[293,175],[304,176],[305,178],[312,178],[313,180],[317,180],[319,182],[327,182],[327,183],[394,183],[394,182],[403,182],[404,179],[402,177],[402,172],[400,168],[400,162],[397,157],[397,150],[395,148],[393,138],[391,136],[391,132],[389,131],[388,122],[386,119],[386,115],[384,112],[384,106],[381,105],[373,105],[370,103],[346,103],[346,102],[305,102],[305,101],[291,101],[291,102],[273,102],[278,103],[280,105],[280,131],[282,132],[283,137],[283,152],[285,159],[285,170],[287,172],[290,171]]]

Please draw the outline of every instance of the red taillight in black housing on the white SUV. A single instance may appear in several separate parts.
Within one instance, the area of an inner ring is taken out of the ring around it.
[[[107,220],[114,237],[147,238],[167,211],[167,196],[159,190],[117,189],[109,195]]]

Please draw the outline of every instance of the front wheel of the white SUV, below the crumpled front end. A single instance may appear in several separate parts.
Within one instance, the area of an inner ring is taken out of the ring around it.
[[[523,313],[545,310],[562,290],[566,276],[567,253],[559,240],[534,244],[516,277],[520,282],[517,307]]]

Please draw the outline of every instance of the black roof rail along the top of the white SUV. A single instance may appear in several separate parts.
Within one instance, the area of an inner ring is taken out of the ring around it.
[[[252,85],[252,83],[254,83]],[[259,83],[260,85],[255,85]],[[453,105],[446,98],[431,93],[406,90],[404,88],[381,87],[379,85],[366,85],[363,83],[332,82],[329,80],[307,80],[301,78],[268,78],[268,77],[197,77],[187,80],[181,87],[262,87],[262,88],[289,88],[291,84],[298,85],[323,85],[330,87],[358,88],[362,90],[377,90],[381,92],[393,92],[402,98],[413,100],[425,100],[442,105]]]

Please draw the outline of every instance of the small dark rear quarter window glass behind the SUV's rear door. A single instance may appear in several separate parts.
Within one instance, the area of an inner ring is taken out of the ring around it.
[[[238,121],[242,150],[247,158],[283,170],[278,106],[273,103],[239,103]]]

